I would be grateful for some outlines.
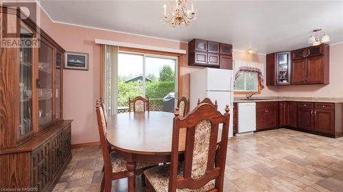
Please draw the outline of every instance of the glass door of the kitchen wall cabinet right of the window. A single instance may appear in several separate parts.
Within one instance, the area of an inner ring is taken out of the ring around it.
[[[277,53],[276,56],[276,83],[279,85],[289,85],[290,84],[290,53],[283,52]]]

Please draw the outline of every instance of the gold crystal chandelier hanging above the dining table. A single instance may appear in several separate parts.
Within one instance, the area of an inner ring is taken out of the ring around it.
[[[194,11],[193,1],[191,0],[191,9],[187,9],[187,0],[176,0],[170,4],[171,14],[167,14],[167,5],[163,5],[163,21],[172,27],[186,25],[189,26],[196,20],[196,11]]]

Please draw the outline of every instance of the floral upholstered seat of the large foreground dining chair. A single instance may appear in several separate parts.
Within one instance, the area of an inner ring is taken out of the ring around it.
[[[178,166],[178,177],[182,177],[182,165]],[[169,186],[170,164],[152,167],[144,171],[145,177],[149,180],[156,192],[167,192]],[[211,180],[199,189],[176,189],[178,192],[204,192],[214,189],[215,180]]]

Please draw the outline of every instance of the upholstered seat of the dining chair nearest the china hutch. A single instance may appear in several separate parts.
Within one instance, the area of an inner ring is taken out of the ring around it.
[[[126,168],[125,159],[123,159],[123,157],[115,151],[110,153],[110,163],[112,165],[112,172],[113,173],[128,171],[128,169]],[[136,169],[143,169],[145,167],[151,167],[153,165],[158,165],[158,163],[137,162]]]

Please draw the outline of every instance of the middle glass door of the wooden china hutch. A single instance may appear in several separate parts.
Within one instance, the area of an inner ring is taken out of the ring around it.
[[[52,120],[52,83],[53,83],[53,49],[44,40],[40,40],[38,49],[38,126]]]

